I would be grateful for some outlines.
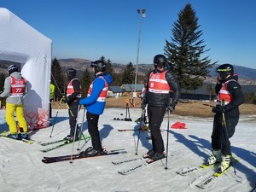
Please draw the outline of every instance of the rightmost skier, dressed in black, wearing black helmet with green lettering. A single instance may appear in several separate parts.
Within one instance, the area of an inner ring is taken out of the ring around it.
[[[218,73],[215,86],[217,105],[212,108],[212,113],[215,113],[212,128],[212,154],[206,165],[221,162],[218,172],[224,172],[231,161],[229,138],[235,133],[239,121],[239,106],[245,102],[245,98],[232,65],[221,65],[216,72]]]

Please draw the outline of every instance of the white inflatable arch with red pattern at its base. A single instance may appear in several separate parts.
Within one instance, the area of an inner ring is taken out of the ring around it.
[[[0,60],[21,63],[28,84],[24,113],[30,130],[49,125],[51,50],[51,39],[0,8]]]

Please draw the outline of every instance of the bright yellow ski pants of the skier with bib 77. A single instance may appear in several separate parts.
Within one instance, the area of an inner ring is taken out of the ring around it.
[[[15,121],[15,113],[16,113],[16,117],[19,122],[20,128],[23,128],[23,132],[26,133],[27,125],[26,125],[26,119],[24,117],[23,105],[15,105],[7,102],[5,118],[6,118],[7,124],[9,125],[9,131],[12,134],[15,134],[18,132],[16,121]]]

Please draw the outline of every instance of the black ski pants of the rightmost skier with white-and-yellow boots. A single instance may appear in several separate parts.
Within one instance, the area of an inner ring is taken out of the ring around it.
[[[224,125],[225,120],[225,125]],[[212,149],[221,149],[222,154],[231,155],[231,143],[230,137],[232,137],[238,124],[239,116],[237,117],[225,117],[223,119],[222,114],[216,113],[213,119],[212,129]]]

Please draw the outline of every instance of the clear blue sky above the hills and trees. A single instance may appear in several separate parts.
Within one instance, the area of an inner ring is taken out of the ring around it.
[[[256,68],[254,0],[0,0],[0,7],[52,39],[53,58],[94,61],[104,55],[112,62],[135,65],[137,9],[146,9],[138,63],[148,64],[164,53],[172,24],[186,3],[199,18],[212,62]]]

